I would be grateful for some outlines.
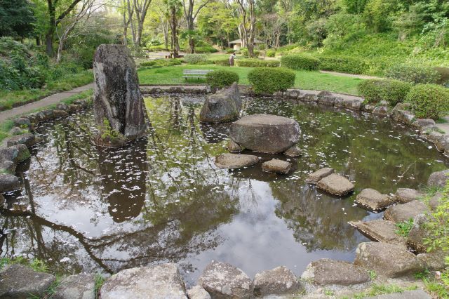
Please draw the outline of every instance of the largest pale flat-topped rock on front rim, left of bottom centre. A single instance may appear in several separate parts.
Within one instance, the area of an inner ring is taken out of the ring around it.
[[[101,288],[102,299],[187,298],[185,284],[173,263],[121,270]]]

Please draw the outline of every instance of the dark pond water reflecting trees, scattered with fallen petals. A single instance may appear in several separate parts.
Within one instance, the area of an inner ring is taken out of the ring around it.
[[[353,260],[367,241],[350,220],[381,218],[354,205],[371,187],[423,187],[448,159],[389,119],[294,102],[247,98],[244,114],[296,119],[303,155],[257,154],[293,163],[289,175],[216,168],[229,124],[199,124],[203,97],[147,98],[152,130],[119,150],[90,141],[93,112],[48,121],[43,142],[20,165],[22,192],[1,209],[1,256],[39,258],[60,273],[108,272],[173,262],[194,284],[210,260],[250,277],[285,265],[301,274],[319,258]],[[354,181],[344,199],[304,183],[323,166]]]

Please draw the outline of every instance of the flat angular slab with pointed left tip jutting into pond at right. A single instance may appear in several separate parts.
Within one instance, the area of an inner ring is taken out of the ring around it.
[[[349,224],[356,227],[362,234],[378,242],[391,243],[401,246],[407,250],[407,240],[396,234],[398,229],[394,222],[389,220],[371,220],[371,221],[349,221]]]

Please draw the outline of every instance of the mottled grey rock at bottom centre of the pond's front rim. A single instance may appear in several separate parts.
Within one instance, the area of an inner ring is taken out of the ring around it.
[[[212,298],[250,298],[253,281],[242,270],[227,263],[212,261],[198,280]]]

